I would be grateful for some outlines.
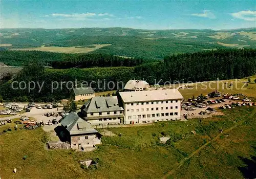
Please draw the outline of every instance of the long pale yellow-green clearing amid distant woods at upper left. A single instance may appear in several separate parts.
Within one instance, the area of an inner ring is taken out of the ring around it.
[[[100,49],[102,47],[111,46],[111,44],[92,44],[95,48],[81,48],[76,47],[35,47],[35,48],[24,48],[24,49],[10,49],[10,50],[20,50],[20,51],[44,51],[44,52],[57,52],[57,53],[89,53]]]

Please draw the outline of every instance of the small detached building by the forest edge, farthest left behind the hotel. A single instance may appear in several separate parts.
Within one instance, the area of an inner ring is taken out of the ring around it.
[[[75,101],[84,100],[84,99],[91,99],[95,96],[95,91],[90,87],[76,87],[72,89],[71,98]]]

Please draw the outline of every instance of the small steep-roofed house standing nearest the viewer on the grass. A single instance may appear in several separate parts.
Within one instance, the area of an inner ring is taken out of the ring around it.
[[[61,122],[60,138],[73,149],[88,150],[101,143],[101,133],[71,112]]]

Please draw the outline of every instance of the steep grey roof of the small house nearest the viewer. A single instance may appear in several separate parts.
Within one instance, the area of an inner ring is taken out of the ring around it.
[[[81,135],[89,133],[100,134],[96,129],[91,127],[90,123],[79,118],[79,116],[73,112],[64,118],[60,124],[68,130],[70,135]]]

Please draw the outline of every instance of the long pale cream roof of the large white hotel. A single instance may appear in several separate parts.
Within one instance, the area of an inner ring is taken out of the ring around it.
[[[125,103],[183,99],[178,89],[120,92],[119,95]]]

